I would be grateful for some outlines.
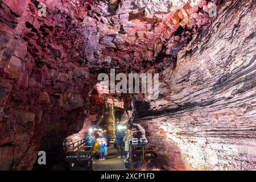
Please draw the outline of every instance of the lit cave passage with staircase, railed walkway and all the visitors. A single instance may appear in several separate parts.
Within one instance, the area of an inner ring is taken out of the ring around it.
[[[129,126],[122,97],[98,96],[104,103],[102,115],[86,132],[73,134],[63,143],[67,169],[125,171],[134,166],[137,170],[145,169],[156,153],[150,148],[146,151],[149,146],[146,137],[138,127]]]

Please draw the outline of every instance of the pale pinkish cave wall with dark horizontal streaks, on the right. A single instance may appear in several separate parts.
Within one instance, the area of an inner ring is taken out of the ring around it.
[[[161,73],[159,99],[134,98],[133,122],[165,168],[256,169],[255,10],[255,1],[225,1]]]

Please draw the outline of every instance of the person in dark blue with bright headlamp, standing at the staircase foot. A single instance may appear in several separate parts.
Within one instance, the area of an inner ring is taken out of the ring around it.
[[[118,125],[115,132],[115,141],[117,142],[117,159],[125,158],[125,142],[123,138],[125,137],[125,126]]]

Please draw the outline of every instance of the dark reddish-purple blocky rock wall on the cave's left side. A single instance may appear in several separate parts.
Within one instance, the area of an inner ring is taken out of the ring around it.
[[[0,169],[31,169],[37,151],[90,124],[82,20],[91,5],[74,2],[0,1]]]

